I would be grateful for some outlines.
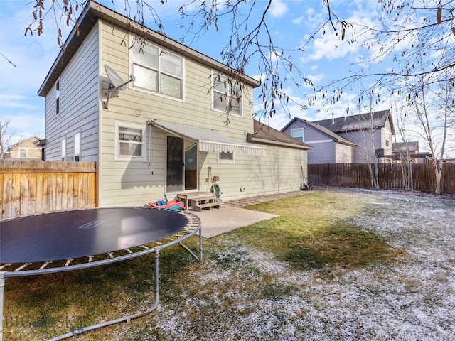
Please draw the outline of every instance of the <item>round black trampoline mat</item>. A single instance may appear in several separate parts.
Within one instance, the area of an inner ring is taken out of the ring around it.
[[[20,217],[0,223],[0,263],[34,263],[95,256],[137,247],[188,224],[177,212],[106,207]]]

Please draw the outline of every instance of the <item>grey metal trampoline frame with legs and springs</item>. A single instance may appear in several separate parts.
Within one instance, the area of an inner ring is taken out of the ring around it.
[[[102,207],[97,207],[97,208],[102,208]],[[92,209],[87,209],[87,210],[97,210],[97,208],[92,208]],[[122,208],[137,208],[137,207],[122,207]],[[155,208],[147,208],[147,210],[155,210]],[[59,211],[61,212],[61,211]],[[116,263],[118,261],[125,261],[127,259],[133,259],[139,256],[144,256],[146,254],[154,254],[154,276],[155,276],[155,283],[154,283],[154,302],[150,306],[149,309],[143,311],[143,312],[138,312],[132,315],[126,315],[121,318],[116,318],[114,320],[109,320],[105,321],[102,323],[97,323],[95,325],[89,325],[87,327],[83,328],[77,328],[70,330],[70,332],[67,332],[63,335],[60,335],[58,337],[53,337],[51,339],[48,339],[48,341],[56,341],[56,340],[64,340],[68,337],[72,337],[74,335],[80,335],[83,332],[88,332],[90,330],[95,330],[98,328],[103,328],[108,325],[114,325],[116,323],[122,323],[122,322],[129,322],[129,320],[132,320],[134,318],[141,318],[144,315],[148,315],[151,313],[155,308],[158,306],[158,301],[159,301],[159,252],[162,249],[166,249],[168,247],[172,247],[173,245],[179,244],[183,249],[188,251],[191,256],[193,256],[194,259],[197,261],[202,261],[203,257],[203,247],[202,247],[202,232],[201,232],[201,227],[202,223],[200,222],[200,218],[195,215],[192,212],[188,212],[186,210],[181,210],[181,211],[176,211],[178,214],[183,215],[187,218],[188,223],[186,224],[185,227],[183,227],[180,231],[176,232],[175,234],[171,234],[168,237],[164,237],[163,239],[156,240],[154,242],[149,242],[147,244],[156,244],[154,247],[147,247],[146,245],[138,245],[137,247],[132,247],[130,249],[124,249],[124,250],[119,250],[119,251],[112,251],[107,254],[106,259],[101,259],[97,261],[92,261],[92,259],[95,256],[100,256],[100,254],[93,255],[93,256],[87,256],[87,261],[85,263],[81,264],[73,264],[71,265],[71,261],[73,259],[66,259],[62,261],[65,261],[64,266],[55,266],[55,267],[48,267],[49,264],[52,262],[43,262],[43,264],[38,268],[38,269],[33,269],[33,270],[24,270],[27,266],[31,266],[32,263],[26,263],[22,264],[16,269],[12,271],[5,271],[4,269],[9,268],[13,264],[4,264],[0,265],[0,341],[3,340],[3,317],[4,317],[4,288],[6,285],[6,278],[10,277],[21,277],[21,276],[36,276],[36,275],[44,275],[44,274],[53,274],[57,272],[63,272],[63,271],[73,271],[73,270],[78,270],[78,269],[87,269],[91,268],[94,266],[102,266],[106,264],[112,264]],[[45,214],[52,214],[50,213],[41,213],[38,215],[45,215]],[[27,216],[28,217],[28,216]],[[20,219],[22,217],[17,217],[13,219]],[[198,233],[199,232],[199,233]],[[187,247],[185,244],[183,244],[183,241],[188,239],[189,237],[192,237],[194,234],[198,233],[199,234],[199,254],[196,255],[189,247]],[[166,241],[166,243],[161,243],[161,241]],[[140,251],[135,251],[132,249],[140,249]],[[114,255],[114,253],[125,253],[126,254],[121,254],[119,256]],[[85,257],[81,257],[79,259],[84,259]],[[40,263],[41,264],[41,263]],[[16,266],[16,264],[14,264]]]

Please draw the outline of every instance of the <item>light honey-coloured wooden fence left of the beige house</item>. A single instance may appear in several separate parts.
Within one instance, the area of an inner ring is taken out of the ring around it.
[[[95,162],[0,160],[0,219],[96,207]]]

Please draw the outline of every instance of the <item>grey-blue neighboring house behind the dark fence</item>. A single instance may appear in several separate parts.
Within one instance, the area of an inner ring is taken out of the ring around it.
[[[313,146],[308,163],[391,162],[395,135],[390,110],[306,121],[294,117],[282,131]]]

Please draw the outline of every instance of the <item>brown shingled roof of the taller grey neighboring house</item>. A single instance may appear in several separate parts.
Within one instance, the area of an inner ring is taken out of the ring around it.
[[[321,121],[313,121],[314,124],[324,126],[333,133],[346,133],[348,131],[358,131],[363,129],[384,128],[387,119],[390,120],[392,134],[395,135],[395,128],[393,126],[392,115],[390,109],[382,110],[380,112],[364,113],[358,115],[351,115],[345,117],[335,117],[333,119],[323,119]]]

